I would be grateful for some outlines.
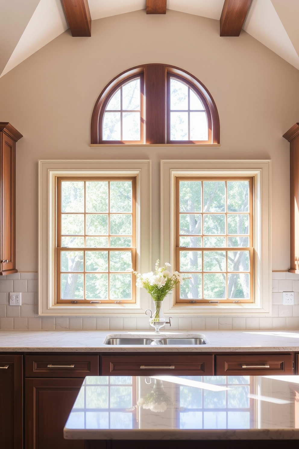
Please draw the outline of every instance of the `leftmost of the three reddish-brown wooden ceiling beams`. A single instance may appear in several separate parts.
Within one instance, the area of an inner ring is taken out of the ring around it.
[[[73,37],[91,37],[91,14],[87,0],[62,0]]]

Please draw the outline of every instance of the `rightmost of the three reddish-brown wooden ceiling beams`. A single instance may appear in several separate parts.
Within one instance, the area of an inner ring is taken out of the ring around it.
[[[221,18],[221,36],[239,36],[246,18],[251,0],[225,0]]]

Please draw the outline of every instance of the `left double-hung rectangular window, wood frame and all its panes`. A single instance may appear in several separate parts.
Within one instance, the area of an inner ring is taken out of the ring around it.
[[[58,178],[57,303],[135,302],[136,179]]]

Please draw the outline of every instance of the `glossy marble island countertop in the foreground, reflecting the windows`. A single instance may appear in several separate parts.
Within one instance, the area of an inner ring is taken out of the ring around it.
[[[299,376],[86,377],[69,440],[299,440]]]

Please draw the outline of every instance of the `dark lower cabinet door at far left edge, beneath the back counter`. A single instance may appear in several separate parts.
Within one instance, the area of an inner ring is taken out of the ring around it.
[[[23,357],[0,356],[0,447],[23,447]]]

